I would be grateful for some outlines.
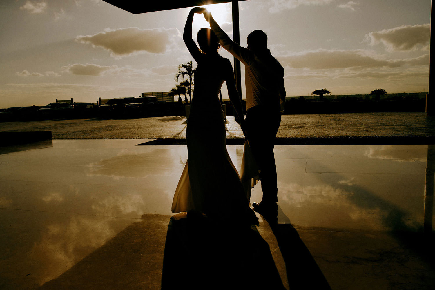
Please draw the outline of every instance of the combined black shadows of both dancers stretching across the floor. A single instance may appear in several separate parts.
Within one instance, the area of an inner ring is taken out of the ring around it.
[[[269,225],[284,258],[285,287],[256,227],[236,230],[189,212],[169,222],[161,289],[331,289],[294,227]]]

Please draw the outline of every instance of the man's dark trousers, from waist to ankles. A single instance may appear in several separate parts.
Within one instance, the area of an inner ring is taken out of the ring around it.
[[[281,113],[265,110],[261,106],[248,109],[246,126],[254,159],[260,169],[263,200],[278,202],[278,185],[273,153],[276,133],[281,123]]]

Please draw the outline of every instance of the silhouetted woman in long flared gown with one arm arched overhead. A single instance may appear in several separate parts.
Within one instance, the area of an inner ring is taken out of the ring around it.
[[[187,163],[175,190],[172,212],[196,210],[219,223],[255,224],[258,218],[249,207],[238,172],[228,155],[224,114],[218,97],[225,82],[243,129],[243,110],[233,68],[227,58],[219,55],[220,45],[212,30],[201,28],[198,31],[201,50],[198,49],[192,40],[194,13],[207,13],[207,10],[193,8],[184,27],[184,43],[198,65],[187,121]]]

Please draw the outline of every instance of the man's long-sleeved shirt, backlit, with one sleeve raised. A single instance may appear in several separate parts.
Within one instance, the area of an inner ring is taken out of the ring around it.
[[[246,110],[260,105],[279,112],[280,99],[284,101],[285,98],[284,68],[270,50],[253,51],[241,47],[212,18],[210,27],[221,46],[245,65]]]

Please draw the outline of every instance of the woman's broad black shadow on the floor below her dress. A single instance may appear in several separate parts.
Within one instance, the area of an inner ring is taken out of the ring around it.
[[[232,229],[200,213],[169,222],[162,273],[166,289],[285,289],[256,228]]]

